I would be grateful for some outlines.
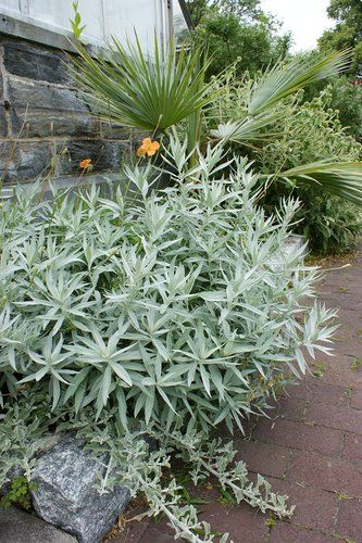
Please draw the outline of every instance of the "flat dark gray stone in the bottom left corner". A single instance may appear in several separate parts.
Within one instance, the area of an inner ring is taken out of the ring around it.
[[[76,539],[35,515],[0,507],[0,543],[76,543]]]

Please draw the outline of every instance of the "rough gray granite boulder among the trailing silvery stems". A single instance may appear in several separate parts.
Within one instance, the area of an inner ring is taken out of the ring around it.
[[[75,535],[79,543],[100,542],[130,500],[122,485],[100,495],[93,488],[98,470],[82,442],[67,437],[41,456],[34,471],[36,513]]]

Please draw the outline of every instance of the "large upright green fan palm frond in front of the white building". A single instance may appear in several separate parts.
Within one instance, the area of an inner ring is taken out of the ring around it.
[[[215,97],[214,83],[204,83],[208,61],[201,51],[166,51],[154,38],[154,56],[148,58],[136,36],[127,48],[113,38],[107,56],[92,58],[77,45],[73,73],[91,99],[97,115],[113,123],[147,130],[165,130],[199,111]]]

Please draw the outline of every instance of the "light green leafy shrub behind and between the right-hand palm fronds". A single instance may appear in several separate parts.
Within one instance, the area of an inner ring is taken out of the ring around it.
[[[222,100],[209,109],[210,122],[225,123],[247,111],[252,79],[247,77],[235,85],[230,74],[224,85]],[[277,172],[332,157],[337,163],[361,160],[362,146],[347,135],[338,112],[330,108],[333,89],[327,87],[311,102],[302,103],[302,98],[299,93],[280,103],[277,121],[267,131],[261,130],[259,141],[247,150],[249,160],[255,161],[258,168],[271,178]],[[276,179],[269,184],[263,205],[273,213],[280,198],[291,195],[301,201],[294,231],[307,236],[314,252],[342,253],[355,248],[362,231],[359,205],[326,194],[317,185]]]

